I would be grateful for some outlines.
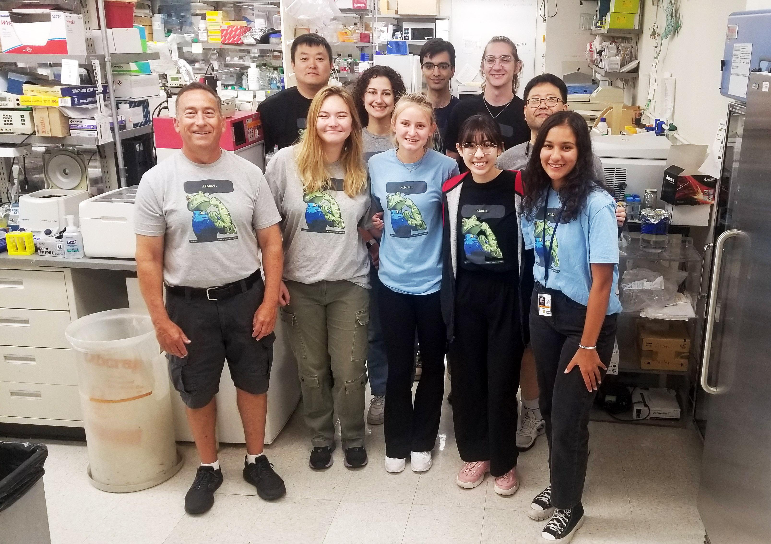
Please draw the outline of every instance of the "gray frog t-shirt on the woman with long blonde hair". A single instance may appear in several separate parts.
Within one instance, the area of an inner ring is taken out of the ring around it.
[[[369,254],[359,234],[359,227],[372,228],[369,183],[351,198],[342,190],[345,174],[335,163],[329,168],[335,190],[305,194],[296,149],[279,149],[265,169],[283,217],[284,279],[303,284],[348,280],[369,288]]]

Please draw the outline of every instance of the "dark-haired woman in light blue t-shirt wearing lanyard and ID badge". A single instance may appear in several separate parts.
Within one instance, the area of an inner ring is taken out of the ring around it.
[[[621,311],[615,203],[594,180],[589,131],[576,112],[555,113],[538,133],[524,170],[522,230],[536,250],[530,340],[551,482],[528,515],[549,519],[544,539],[570,542],[584,522],[589,412]]]

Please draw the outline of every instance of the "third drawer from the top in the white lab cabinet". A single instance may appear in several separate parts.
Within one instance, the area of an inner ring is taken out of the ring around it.
[[[75,351],[0,346],[0,376],[32,384],[77,385]]]

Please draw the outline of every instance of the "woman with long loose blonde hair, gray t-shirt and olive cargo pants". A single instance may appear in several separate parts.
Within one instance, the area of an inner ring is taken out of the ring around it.
[[[332,466],[335,419],[345,465],[364,448],[369,258],[359,229],[372,227],[359,116],[352,96],[318,91],[300,143],[276,153],[265,177],[281,213],[281,319],[298,361],[311,468]],[[334,376],[334,380],[333,377]]]

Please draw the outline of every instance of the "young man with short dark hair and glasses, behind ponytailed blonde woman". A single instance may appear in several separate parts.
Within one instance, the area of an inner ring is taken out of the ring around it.
[[[455,76],[455,48],[441,38],[429,39],[420,48],[420,65],[426,78],[429,100],[434,106],[436,126],[439,129],[439,151],[444,151],[444,137],[449,123],[449,114],[459,100],[449,93],[449,82]],[[453,147],[453,149],[455,149]]]

